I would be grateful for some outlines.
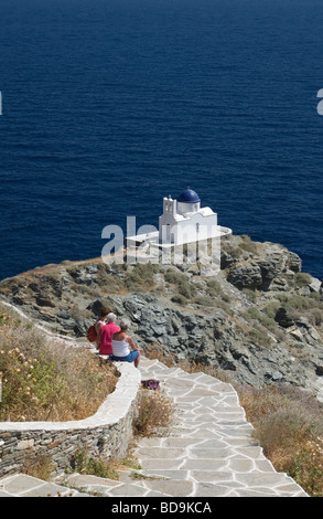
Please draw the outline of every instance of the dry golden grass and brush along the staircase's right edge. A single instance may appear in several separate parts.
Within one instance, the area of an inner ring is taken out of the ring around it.
[[[311,394],[272,385],[237,389],[255,437],[279,472],[323,497],[323,405]]]

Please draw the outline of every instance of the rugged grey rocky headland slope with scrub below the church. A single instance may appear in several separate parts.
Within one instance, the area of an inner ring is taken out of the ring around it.
[[[323,400],[323,289],[300,257],[273,243],[230,236],[222,269],[63,262],[0,283],[2,299],[49,328],[84,340],[99,308],[131,322],[143,349],[192,359],[261,386],[286,382]]]

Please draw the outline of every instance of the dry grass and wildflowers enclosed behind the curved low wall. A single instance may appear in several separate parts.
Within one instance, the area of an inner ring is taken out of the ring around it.
[[[0,314],[2,422],[83,420],[115,390],[118,372],[85,348],[53,346],[31,325]]]

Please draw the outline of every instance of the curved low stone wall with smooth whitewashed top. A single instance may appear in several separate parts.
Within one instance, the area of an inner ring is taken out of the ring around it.
[[[105,460],[126,455],[137,413],[140,371],[128,362],[116,363],[120,378],[96,414],[69,422],[1,422],[0,477],[23,470],[40,455],[49,457],[53,473],[71,465],[80,448]]]

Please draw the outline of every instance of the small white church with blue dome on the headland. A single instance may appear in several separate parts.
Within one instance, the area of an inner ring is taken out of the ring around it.
[[[159,230],[150,231],[151,227],[143,225],[137,235],[127,236],[127,248],[143,248],[147,244],[163,250],[232,234],[230,229],[217,224],[217,213],[208,206],[201,206],[198,194],[191,188],[185,189],[177,199],[171,195],[164,198]]]

